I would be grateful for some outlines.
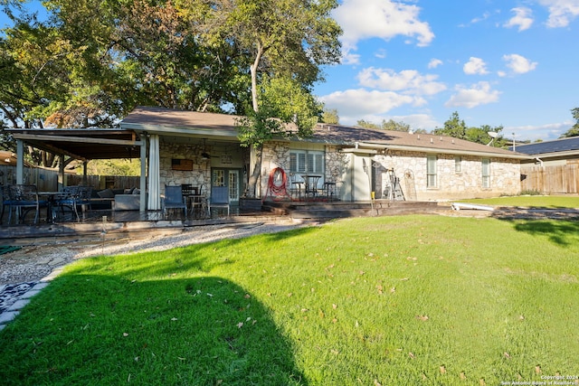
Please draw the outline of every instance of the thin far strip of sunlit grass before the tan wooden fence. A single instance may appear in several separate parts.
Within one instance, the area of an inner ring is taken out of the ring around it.
[[[520,195],[495,197],[472,200],[459,200],[459,202],[471,202],[498,206],[520,206],[526,208],[574,208],[579,209],[579,196],[564,195]]]

